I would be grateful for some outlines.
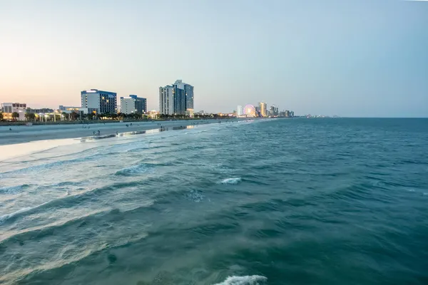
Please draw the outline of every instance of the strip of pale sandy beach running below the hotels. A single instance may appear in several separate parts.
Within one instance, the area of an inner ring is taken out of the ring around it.
[[[232,120],[228,120],[232,121]],[[225,120],[222,120],[225,123]],[[89,125],[19,125],[0,126],[0,145],[12,145],[35,140],[58,140],[66,138],[92,137],[94,132],[100,135],[116,133],[138,132],[157,128],[180,128],[187,125],[204,125],[218,123],[218,120],[171,120],[133,123],[96,123]],[[132,124],[132,125],[131,125]],[[128,125],[128,126],[127,126]]]

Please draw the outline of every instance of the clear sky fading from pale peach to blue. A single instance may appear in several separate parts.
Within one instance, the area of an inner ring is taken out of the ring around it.
[[[195,88],[195,111],[428,117],[428,1],[0,0],[0,102]]]

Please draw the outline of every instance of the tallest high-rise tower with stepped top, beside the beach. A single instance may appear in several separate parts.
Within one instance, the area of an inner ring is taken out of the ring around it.
[[[163,115],[193,115],[193,86],[183,81],[159,88],[159,111]]]

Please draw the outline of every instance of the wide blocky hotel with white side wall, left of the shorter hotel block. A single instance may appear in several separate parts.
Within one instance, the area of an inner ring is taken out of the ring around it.
[[[81,103],[81,108],[94,110],[98,114],[112,114],[118,109],[117,94],[98,89],[81,91]]]

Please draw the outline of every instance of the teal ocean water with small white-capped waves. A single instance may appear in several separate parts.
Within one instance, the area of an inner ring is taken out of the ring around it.
[[[0,162],[0,284],[428,284],[428,120],[271,119]]]

